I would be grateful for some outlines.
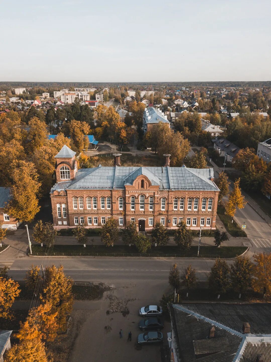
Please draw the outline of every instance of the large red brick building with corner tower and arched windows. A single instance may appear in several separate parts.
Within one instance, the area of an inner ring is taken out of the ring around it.
[[[192,229],[215,228],[219,189],[213,169],[115,166],[78,169],[67,146],[55,156],[56,181],[51,189],[56,228],[101,227],[113,217],[119,227],[135,222],[140,231],[156,222],[176,228],[184,220]]]

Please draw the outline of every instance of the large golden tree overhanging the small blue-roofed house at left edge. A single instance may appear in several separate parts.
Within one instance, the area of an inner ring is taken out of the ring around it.
[[[31,221],[40,209],[37,193],[41,184],[32,162],[14,161],[10,167],[10,188],[12,199],[5,206],[4,212],[13,215],[20,222]]]

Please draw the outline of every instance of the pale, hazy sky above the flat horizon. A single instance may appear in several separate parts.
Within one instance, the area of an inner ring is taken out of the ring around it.
[[[270,0],[0,5],[0,81],[271,80]]]

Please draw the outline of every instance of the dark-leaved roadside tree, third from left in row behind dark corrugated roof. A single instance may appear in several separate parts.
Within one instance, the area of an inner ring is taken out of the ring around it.
[[[221,293],[225,293],[230,287],[229,278],[230,268],[224,259],[216,259],[209,273],[209,289],[218,293],[219,299]]]

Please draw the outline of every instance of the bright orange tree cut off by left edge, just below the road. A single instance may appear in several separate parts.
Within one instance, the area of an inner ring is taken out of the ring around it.
[[[20,294],[19,284],[12,279],[0,277],[0,318],[11,318],[10,308]]]

